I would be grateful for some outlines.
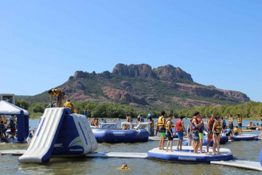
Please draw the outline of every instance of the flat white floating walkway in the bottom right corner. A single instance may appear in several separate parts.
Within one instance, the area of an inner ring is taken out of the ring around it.
[[[257,171],[262,171],[260,162],[247,161],[247,160],[228,160],[228,161],[211,161],[210,164],[225,165],[237,168],[247,168]]]

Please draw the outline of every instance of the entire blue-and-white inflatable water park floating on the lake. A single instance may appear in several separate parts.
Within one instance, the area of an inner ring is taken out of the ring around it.
[[[17,115],[17,123],[21,126],[17,128],[18,141],[23,142],[29,133],[28,112],[22,108],[0,101],[0,113]],[[119,142],[147,142],[149,137],[149,123],[136,126],[134,130],[120,130],[116,125],[103,124],[99,128],[91,128],[86,116],[73,114],[71,110],[64,107],[46,108],[43,116],[40,117],[35,134],[27,150],[2,150],[2,155],[21,155],[19,163],[47,163],[53,157],[103,157],[103,158],[141,158],[153,159],[167,162],[196,163],[196,164],[219,164],[240,168],[249,168],[262,171],[262,153],[260,162],[247,160],[234,160],[230,149],[220,148],[221,154],[207,154],[206,147],[203,146],[202,154],[194,154],[193,148],[187,146],[187,140],[181,150],[173,148],[172,152],[153,148],[147,152],[96,152],[97,142],[119,143]],[[121,124],[122,125],[122,124]],[[128,125],[134,125],[132,123]],[[243,134],[235,136],[237,140],[257,139],[254,134]],[[234,137],[232,138],[234,139]],[[204,144],[207,136],[204,137]],[[228,142],[228,138],[223,136],[221,143]],[[210,143],[210,146],[213,142]]]

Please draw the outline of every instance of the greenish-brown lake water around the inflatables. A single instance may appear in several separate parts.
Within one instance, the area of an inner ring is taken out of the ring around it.
[[[123,121],[123,120],[122,120]],[[157,121],[157,119],[154,119]],[[175,122],[176,120],[173,120]],[[204,120],[206,122],[207,120]],[[228,122],[228,120],[226,120]],[[33,129],[38,120],[29,120],[29,125]],[[243,120],[243,125],[250,121]],[[121,121],[116,122],[118,127]],[[185,127],[189,120],[184,120]],[[256,121],[255,121],[256,123]],[[260,134],[260,131],[243,132],[250,134]],[[174,141],[174,145],[177,141]],[[166,145],[166,143],[165,143]],[[147,152],[158,147],[158,141],[148,141],[144,143],[98,143],[97,151],[111,152]],[[239,160],[259,161],[259,152],[262,148],[262,141],[239,141],[228,142],[221,145],[232,151],[234,158]],[[26,143],[1,143],[0,150],[27,149]],[[51,158],[45,164],[19,164],[19,156],[0,156],[0,174],[261,174],[258,171],[226,167],[223,165],[211,164],[188,164],[170,163],[150,159],[123,159],[123,158]],[[130,171],[121,170],[119,167],[126,163]]]

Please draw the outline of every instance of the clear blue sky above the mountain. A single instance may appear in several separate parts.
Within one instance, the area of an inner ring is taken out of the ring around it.
[[[1,1],[0,93],[35,95],[77,70],[166,64],[262,101],[262,1]]]

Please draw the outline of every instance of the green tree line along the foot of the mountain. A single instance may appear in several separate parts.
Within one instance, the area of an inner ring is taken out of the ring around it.
[[[22,107],[29,111],[30,116],[41,116],[48,103],[29,103],[24,99],[16,99],[16,103],[19,107]],[[84,114],[84,109],[88,109],[89,117],[103,117],[103,118],[125,118],[126,114],[131,115],[135,118],[141,114],[144,117],[149,112],[152,113],[154,118],[161,116],[161,111],[145,111],[135,109],[128,105],[117,104],[117,103],[98,103],[98,102],[72,102],[78,114]],[[194,113],[198,111],[203,113],[205,118],[208,118],[211,114],[221,115],[228,117],[229,114],[233,116],[240,114],[244,119],[256,119],[260,120],[262,117],[262,103],[249,101],[238,105],[221,105],[220,107],[214,106],[200,106],[191,109],[172,110],[165,111],[167,115],[173,114],[176,118],[179,116],[185,116],[191,118]]]

